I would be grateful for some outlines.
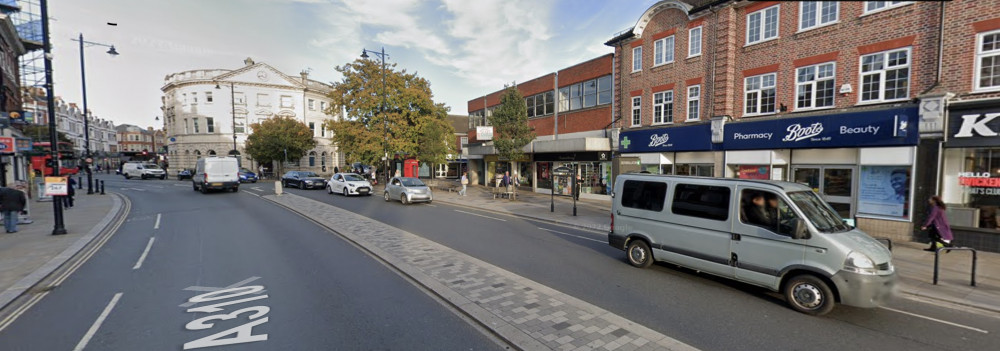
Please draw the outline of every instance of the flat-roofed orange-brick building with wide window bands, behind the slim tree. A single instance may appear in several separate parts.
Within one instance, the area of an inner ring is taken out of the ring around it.
[[[522,160],[500,160],[487,138],[479,139],[476,127],[488,127],[489,116],[500,104],[503,90],[469,100],[469,174],[474,183],[492,180],[511,171],[522,187],[548,193],[553,186],[569,194],[564,179],[553,184],[551,171],[576,167],[581,196],[607,198],[612,174],[613,55],[600,56],[517,84],[528,106],[528,125],[536,138],[525,146]],[[486,140],[483,140],[486,139]]]

